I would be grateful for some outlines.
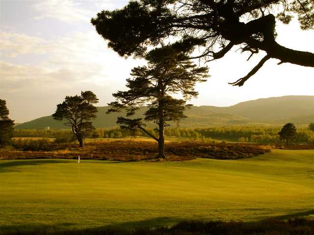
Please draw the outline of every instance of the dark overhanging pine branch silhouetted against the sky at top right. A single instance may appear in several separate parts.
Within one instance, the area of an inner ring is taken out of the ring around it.
[[[274,16],[278,8],[282,11]],[[313,0],[136,0],[123,9],[98,13],[91,23],[121,56],[143,56],[148,47],[169,38],[197,39],[194,43],[203,51],[194,58],[206,61],[224,57],[236,45],[251,56],[266,52],[246,76],[231,83],[242,86],[270,58],[314,67],[314,53],[275,41],[276,17],[288,24],[293,13],[302,29],[314,28]]]

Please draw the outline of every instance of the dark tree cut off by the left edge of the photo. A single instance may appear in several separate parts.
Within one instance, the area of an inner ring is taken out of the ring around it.
[[[8,115],[6,101],[0,99],[0,147],[10,144],[13,137],[14,121]]]

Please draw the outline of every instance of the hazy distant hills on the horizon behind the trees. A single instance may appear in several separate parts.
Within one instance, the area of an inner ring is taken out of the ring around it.
[[[115,127],[117,117],[125,113],[106,115],[108,107],[98,107],[97,118],[93,121],[96,128]],[[140,108],[134,118],[142,117],[147,110]],[[188,118],[180,122],[182,127],[206,127],[213,125],[237,124],[283,124],[289,121],[295,124],[308,124],[314,121],[314,96],[289,95],[241,102],[230,107],[193,106],[186,112]],[[62,121],[53,120],[52,116],[37,118],[17,125],[17,129],[65,129]]]

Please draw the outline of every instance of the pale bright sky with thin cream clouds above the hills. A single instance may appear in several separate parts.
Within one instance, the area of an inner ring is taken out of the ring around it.
[[[16,123],[49,116],[66,95],[93,91],[105,106],[112,93],[125,90],[133,67],[143,60],[124,59],[107,48],[90,19],[103,9],[125,6],[128,0],[0,0],[0,99]],[[314,30],[302,31],[296,19],[277,22],[277,42],[314,52]],[[232,51],[207,63],[210,77],[198,84],[190,103],[230,106],[273,96],[314,95],[314,68],[268,60],[243,87],[233,82],[264,56]],[[196,61],[200,66],[204,62]]]

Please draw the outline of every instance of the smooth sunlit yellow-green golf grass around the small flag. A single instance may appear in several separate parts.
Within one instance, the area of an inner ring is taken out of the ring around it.
[[[2,231],[314,216],[314,150],[242,160],[1,160]]]

